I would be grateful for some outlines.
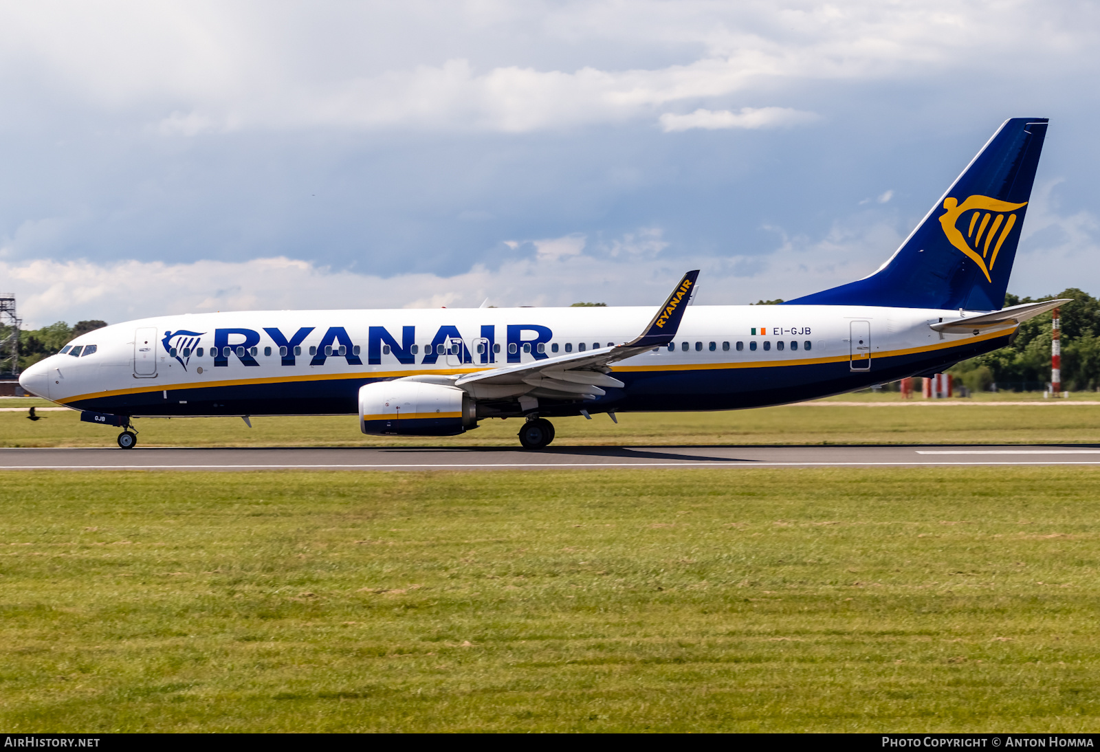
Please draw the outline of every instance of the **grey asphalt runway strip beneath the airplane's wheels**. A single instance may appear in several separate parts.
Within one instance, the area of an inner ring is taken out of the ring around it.
[[[1100,445],[3,449],[0,469],[494,471],[1100,465]]]

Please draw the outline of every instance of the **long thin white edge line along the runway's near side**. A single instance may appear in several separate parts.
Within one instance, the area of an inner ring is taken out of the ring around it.
[[[1067,462],[521,462],[521,463],[422,463],[422,464],[314,464],[314,465],[3,465],[6,469],[402,469],[402,468],[487,468],[487,467],[870,467],[943,465],[1100,465],[1100,460]]]

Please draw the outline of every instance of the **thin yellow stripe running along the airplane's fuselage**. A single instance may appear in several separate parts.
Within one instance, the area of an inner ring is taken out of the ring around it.
[[[989,332],[987,334],[978,334],[976,336],[970,336],[965,341],[948,341],[938,342],[932,345],[923,345],[921,347],[909,347],[905,350],[888,350],[883,352],[873,353],[871,360],[880,357],[895,357],[898,355],[913,355],[916,353],[927,353],[936,350],[950,350],[953,347],[958,347],[961,345],[970,344],[971,342],[982,342],[985,340],[992,340],[999,336],[1005,336],[1011,334],[1013,328],[1001,329],[996,332]],[[679,364],[679,365],[647,365],[647,366],[612,366],[613,372],[661,372],[661,371],[732,371],[735,368],[777,368],[780,366],[792,366],[792,365],[817,365],[821,363],[845,363],[850,361],[848,355],[836,355],[832,357],[805,357],[805,358],[784,358],[776,361],[749,361],[747,363],[701,363],[701,364]],[[206,389],[212,387],[226,387],[226,386],[252,386],[256,384],[290,384],[295,381],[329,381],[337,379],[360,379],[360,378],[400,378],[403,376],[418,376],[420,374],[433,374],[439,376],[447,376],[453,374],[475,374],[481,371],[490,371],[490,368],[449,368],[447,371],[366,371],[366,372],[352,372],[352,373],[341,373],[341,374],[310,374],[308,376],[275,376],[271,378],[242,378],[232,379],[223,381],[206,381],[198,384],[161,384],[158,386],[148,387],[138,387],[134,389],[113,389],[103,391],[94,391],[87,395],[78,395],[76,397],[64,397],[62,399],[53,400],[59,405],[68,405],[70,402],[76,402],[82,399],[98,399],[102,397],[114,397],[118,395],[138,395],[151,391],[180,391],[183,389]]]

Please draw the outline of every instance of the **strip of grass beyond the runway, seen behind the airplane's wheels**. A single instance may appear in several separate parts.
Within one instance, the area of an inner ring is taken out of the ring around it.
[[[556,418],[554,445],[1100,443],[1100,405],[1080,403],[1096,395],[1045,401],[1033,395],[983,397],[989,399],[905,403],[897,394],[846,395],[756,410],[622,413],[618,424],[607,416]],[[75,411],[40,417],[30,421],[25,412],[0,412],[0,446],[114,445],[117,429],[81,423]],[[520,425],[486,420],[461,436],[392,439],[363,435],[354,416],[260,417],[252,424],[249,429],[240,418],[138,419],[139,447],[515,446]]]

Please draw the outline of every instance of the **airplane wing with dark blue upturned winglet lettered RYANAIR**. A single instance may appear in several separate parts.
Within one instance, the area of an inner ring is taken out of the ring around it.
[[[603,387],[624,386],[623,381],[609,375],[608,366],[612,363],[667,345],[676,335],[697,277],[698,269],[685,274],[645,331],[629,342],[613,347],[600,347],[584,353],[482,371],[461,376],[451,384],[465,389],[474,399],[530,396],[585,400],[605,395],[607,392]]]

